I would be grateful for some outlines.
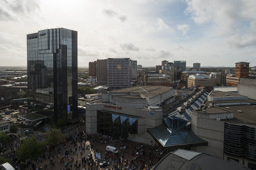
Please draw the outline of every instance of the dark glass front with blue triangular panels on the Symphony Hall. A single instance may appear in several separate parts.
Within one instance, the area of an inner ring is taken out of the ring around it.
[[[118,113],[97,111],[97,132],[113,139],[128,138],[129,134],[138,134],[138,119]]]

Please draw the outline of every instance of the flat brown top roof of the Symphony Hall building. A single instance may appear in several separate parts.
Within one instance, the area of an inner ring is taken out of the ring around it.
[[[159,94],[163,94],[165,92],[168,92],[170,90],[173,90],[172,87],[166,87],[166,86],[136,86],[136,87],[127,87],[120,90],[113,90],[109,93],[115,94],[115,93],[139,93],[143,94],[146,97],[154,97]]]

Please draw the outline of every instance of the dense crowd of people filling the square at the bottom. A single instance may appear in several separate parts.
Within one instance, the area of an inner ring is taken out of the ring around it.
[[[143,145],[127,140],[112,140],[109,136],[88,134],[83,124],[61,129],[65,142],[49,148],[36,160],[19,162],[17,149],[21,141],[15,141],[0,157],[12,159],[15,169],[151,169],[166,153],[156,146]],[[44,134],[37,136],[44,141]],[[118,154],[106,151],[106,146],[115,146]],[[101,159],[97,159],[97,155]],[[90,155],[92,154],[92,155]],[[105,160],[107,166],[100,167]]]

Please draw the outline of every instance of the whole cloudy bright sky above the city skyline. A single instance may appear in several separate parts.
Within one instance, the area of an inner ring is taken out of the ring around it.
[[[0,0],[0,66],[26,66],[26,34],[78,33],[78,66],[129,57],[142,66],[256,66],[255,0]]]

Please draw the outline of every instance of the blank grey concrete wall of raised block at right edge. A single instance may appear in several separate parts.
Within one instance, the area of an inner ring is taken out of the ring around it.
[[[239,94],[256,100],[256,79],[240,78],[240,82],[237,88]]]

